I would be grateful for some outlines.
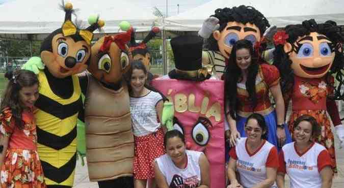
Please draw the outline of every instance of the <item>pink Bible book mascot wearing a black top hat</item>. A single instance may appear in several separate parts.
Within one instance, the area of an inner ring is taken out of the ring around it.
[[[211,187],[224,187],[224,83],[208,79],[211,70],[202,68],[202,42],[196,36],[173,38],[176,68],[152,86],[173,102],[173,128],[185,135],[188,149],[207,156]]]

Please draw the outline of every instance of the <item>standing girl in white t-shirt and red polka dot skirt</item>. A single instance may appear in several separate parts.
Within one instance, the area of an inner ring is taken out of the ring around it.
[[[163,98],[147,88],[147,70],[140,60],[131,63],[127,74],[130,94],[131,125],[135,141],[134,187],[146,188],[152,179],[155,187],[153,161],[165,154],[164,131],[161,123]]]

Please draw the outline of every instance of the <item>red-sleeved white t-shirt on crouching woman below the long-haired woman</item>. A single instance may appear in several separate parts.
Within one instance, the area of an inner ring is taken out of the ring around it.
[[[249,153],[246,142],[247,138],[241,138],[229,151],[229,155],[236,160],[241,184],[244,187],[253,187],[267,179],[267,167],[278,168],[278,153],[277,148],[266,140],[254,153]]]

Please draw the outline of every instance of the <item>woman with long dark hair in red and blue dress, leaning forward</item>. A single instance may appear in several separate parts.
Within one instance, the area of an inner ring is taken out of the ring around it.
[[[237,138],[246,137],[245,123],[252,113],[264,116],[270,143],[281,147],[292,141],[289,131],[284,129],[284,102],[279,80],[277,68],[259,62],[250,41],[239,40],[234,44],[225,71],[225,103],[231,145],[236,144]],[[270,92],[275,108],[270,102]]]

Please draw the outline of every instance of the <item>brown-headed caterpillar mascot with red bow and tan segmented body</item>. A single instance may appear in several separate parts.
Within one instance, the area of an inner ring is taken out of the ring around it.
[[[92,46],[91,74],[86,74],[82,82],[88,173],[100,188],[134,187],[134,136],[129,93],[122,79],[130,66],[126,43],[131,32],[133,28],[104,36]]]

